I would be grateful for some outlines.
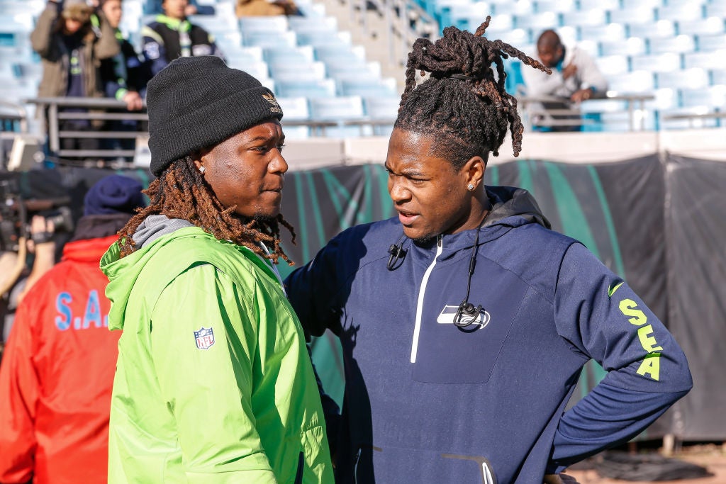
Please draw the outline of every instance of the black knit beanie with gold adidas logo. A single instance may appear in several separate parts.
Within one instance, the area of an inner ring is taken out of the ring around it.
[[[155,176],[174,160],[282,118],[272,91],[215,56],[172,61],[149,81],[146,102]]]

